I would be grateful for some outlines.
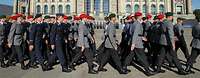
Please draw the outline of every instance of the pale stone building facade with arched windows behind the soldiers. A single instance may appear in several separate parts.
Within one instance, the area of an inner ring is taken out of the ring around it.
[[[192,14],[191,0],[14,0],[13,13],[35,15],[78,15],[87,13],[96,18],[103,18],[109,13],[119,16],[140,11],[144,14],[173,12]]]

